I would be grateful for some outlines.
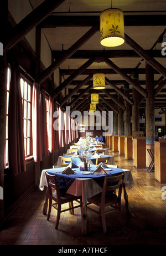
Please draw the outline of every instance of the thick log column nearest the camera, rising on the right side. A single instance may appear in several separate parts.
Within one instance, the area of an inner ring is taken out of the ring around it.
[[[147,149],[154,153],[155,122],[154,122],[154,73],[151,65],[146,63],[146,167],[151,162],[151,156]]]

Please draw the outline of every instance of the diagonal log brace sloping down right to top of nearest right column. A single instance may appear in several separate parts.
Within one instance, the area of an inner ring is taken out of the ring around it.
[[[111,68],[113,70],[116,71],[117,74],[121,75],[129,84],[131,84],[137,91],[139,91],[139,93],[141,93],[143,96],[147,96],[147,91],[145,89],[142,88],[141,85],[139,85],[135,80],[133,80],[130,76],[128,76],[127,74],[125,74],[120,68],[118,68],[117,65],[115,65],[110,59],[105,59],[105,63],[109,66],[111,66]]]

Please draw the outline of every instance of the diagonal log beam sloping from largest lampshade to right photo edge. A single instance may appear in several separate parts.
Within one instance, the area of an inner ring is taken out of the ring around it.
[[[157,70],[161,75],[164,76],[164,78],[166,78],[166,69],[164,68],[164,66],[162,66],[160,63],[157,62],[157,60],[153,59],[151,56],[149,56],[146,51],[136,42],[134,42],[134,40],[132,38],[130,38],[127,34],[125,34],[125,42],[132,47],[136,53],[139,54],[139,56],[141,56],[144,60],[146,60],[146,62],[151,65],[155,70]]]

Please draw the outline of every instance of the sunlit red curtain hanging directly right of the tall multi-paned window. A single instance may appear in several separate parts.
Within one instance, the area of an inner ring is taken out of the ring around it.
[[[38,83],[33,84],[32,93],[32,140],[34,161],[42,161],[42,141],[40,130],[40,93]]]

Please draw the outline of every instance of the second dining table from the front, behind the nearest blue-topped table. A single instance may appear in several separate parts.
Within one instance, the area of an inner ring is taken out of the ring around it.
[[[95,165],[96,164],[96,159],[97,157],[107,157],[108,156],[108,165],[115,165],[115,157],[111,156],[111,155],[102,155],[102,154],[89,154],[86,157],[86,162],[89,163],[90,165]],[[79,155],[66,155],[66,158],[72,158],[72,162],[74,162],[76,165],[80,165],[81,164],[81,160]],[[102,161],[101,161],[102,162]],[[61,165],[61,156],[58,157],[58,161],[56,163],[56,165]]]

